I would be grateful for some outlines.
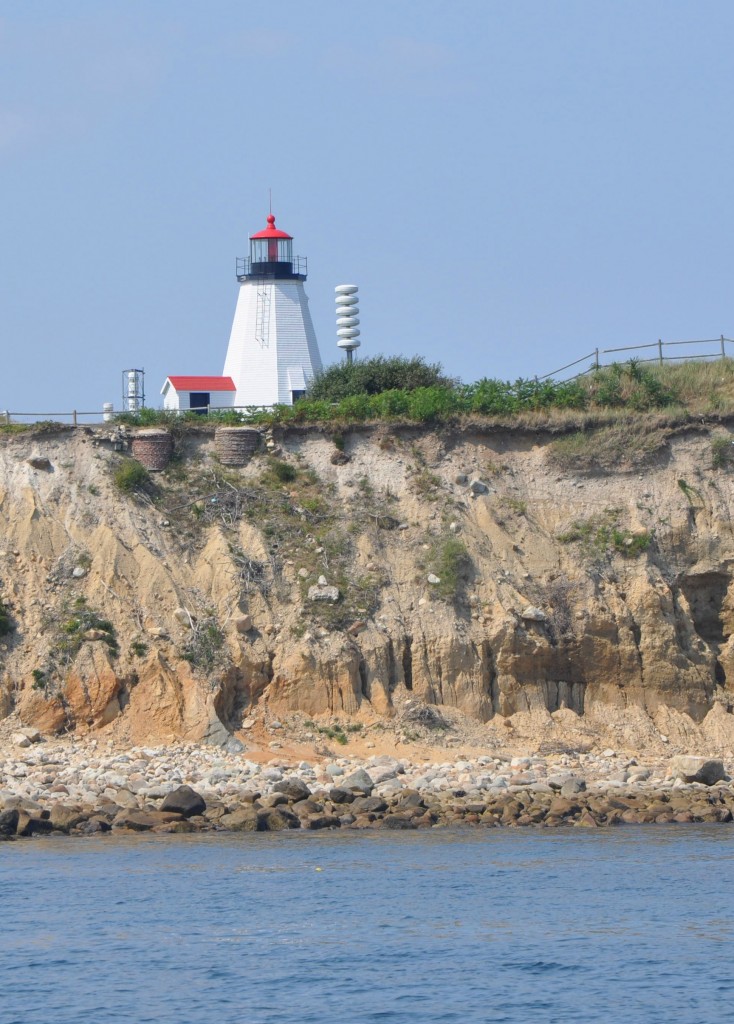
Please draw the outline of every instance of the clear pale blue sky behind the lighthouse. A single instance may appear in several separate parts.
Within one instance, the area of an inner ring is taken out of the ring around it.
[[[0,409],[220,373],[234,258],[464,380],[734,337],[734,4],[0,0]],[[35,407],[39,407],[36,409]]]

